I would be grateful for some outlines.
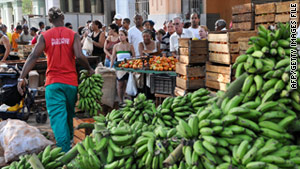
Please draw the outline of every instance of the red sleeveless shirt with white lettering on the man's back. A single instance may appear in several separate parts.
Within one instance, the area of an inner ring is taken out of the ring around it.
[[[63,83],[78,86],[73,41],[75,32],[66,27],[55,27],[44,36],[47,55],[46,84]]]

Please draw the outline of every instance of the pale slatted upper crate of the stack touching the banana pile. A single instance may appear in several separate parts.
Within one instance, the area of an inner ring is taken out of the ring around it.
[[[238,38],[257,35],[256,31],[237,31],[227,33],[210,33],[209,42],[209,61],[230,65],[239,56]]]

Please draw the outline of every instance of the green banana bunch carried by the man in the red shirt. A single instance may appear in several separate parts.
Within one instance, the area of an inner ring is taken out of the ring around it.
[[[79,103],[77,107],[84,110],[89,116],[96,116],[98,111],[102,111],[100,105],[103,95],[101,92],[103,86],[102,76],[100,74],[88,76],[86,70],[81,70],[80,74],[81,83],[78,86]]]

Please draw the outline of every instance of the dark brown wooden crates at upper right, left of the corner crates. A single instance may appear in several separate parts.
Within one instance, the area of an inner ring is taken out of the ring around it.
[[[232,29],[253,30],[254,29],[254,5],[247,3],[232,7]]]

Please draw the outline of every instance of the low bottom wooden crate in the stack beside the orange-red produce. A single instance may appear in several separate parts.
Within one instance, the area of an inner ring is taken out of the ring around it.
[[[180,77],[176,77],[176,86],[185,90],[187,89],[196,90],[204,87],[204,78],[190,80],[190,79],[183,79]]]

